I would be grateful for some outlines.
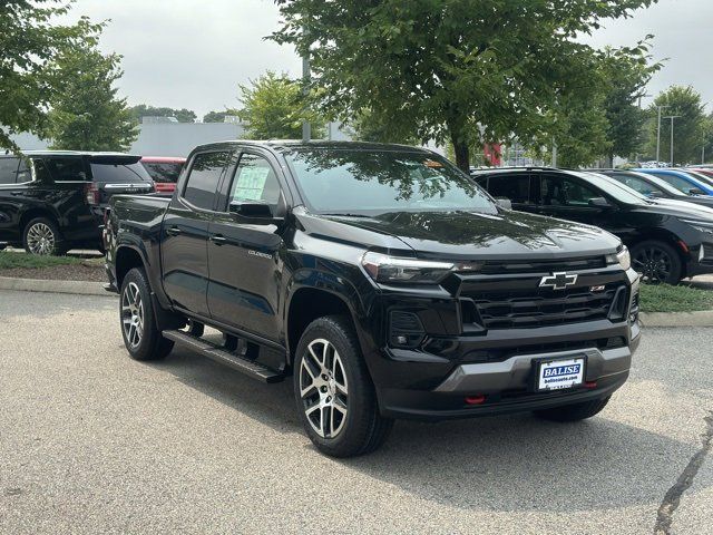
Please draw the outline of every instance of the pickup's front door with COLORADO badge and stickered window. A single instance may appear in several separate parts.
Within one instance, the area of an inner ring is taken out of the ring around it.
[[[246,217],[231,211],[240,203],[264,203],[283,215],[285,193],[280,167],[268,154],[244,152],[226,195],[208,225],[208,308],[214,320],[279,341],[284,242],[275,217]]]

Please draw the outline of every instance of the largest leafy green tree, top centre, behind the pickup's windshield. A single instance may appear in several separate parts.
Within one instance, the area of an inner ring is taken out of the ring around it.
[[[551,128],[544,111],[596,70],[576,37],[652,0],[276,2],[284,22],[271,38],[310,54],[325,113],[349,121],[370,109],[421,140],[450,140],[467,169],[476,142]]]

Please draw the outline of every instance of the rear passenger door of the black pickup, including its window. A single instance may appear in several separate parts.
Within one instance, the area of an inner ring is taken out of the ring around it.
[[[194,155],[183,191],[168,205],[162,226],[164,290],[176,307],[203,317],[209,317],[208,222],[231,155],[231,150]]]

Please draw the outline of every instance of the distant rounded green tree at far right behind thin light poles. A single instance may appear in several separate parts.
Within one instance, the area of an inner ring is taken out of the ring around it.
[[[672,86],[660,94],[648,108],[652,120],[648,121],[648,154],[656,155],[657,106],[665,106],[661,121],[661,159],[668,160],[671,155],[671,119],[673,124],[674,165],[701,160],[701,144],[705,137],[705,114],[701,95],[692,87]]]

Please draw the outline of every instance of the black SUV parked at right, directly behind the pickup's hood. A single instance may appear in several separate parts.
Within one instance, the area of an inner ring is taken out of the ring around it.
[[[472,173],[496,198],[520,212],[587,223],[629,247],[646,282],[676,284],[713,272],[713,213],[690,203],[649,200],[597,173],[496,168]]]

